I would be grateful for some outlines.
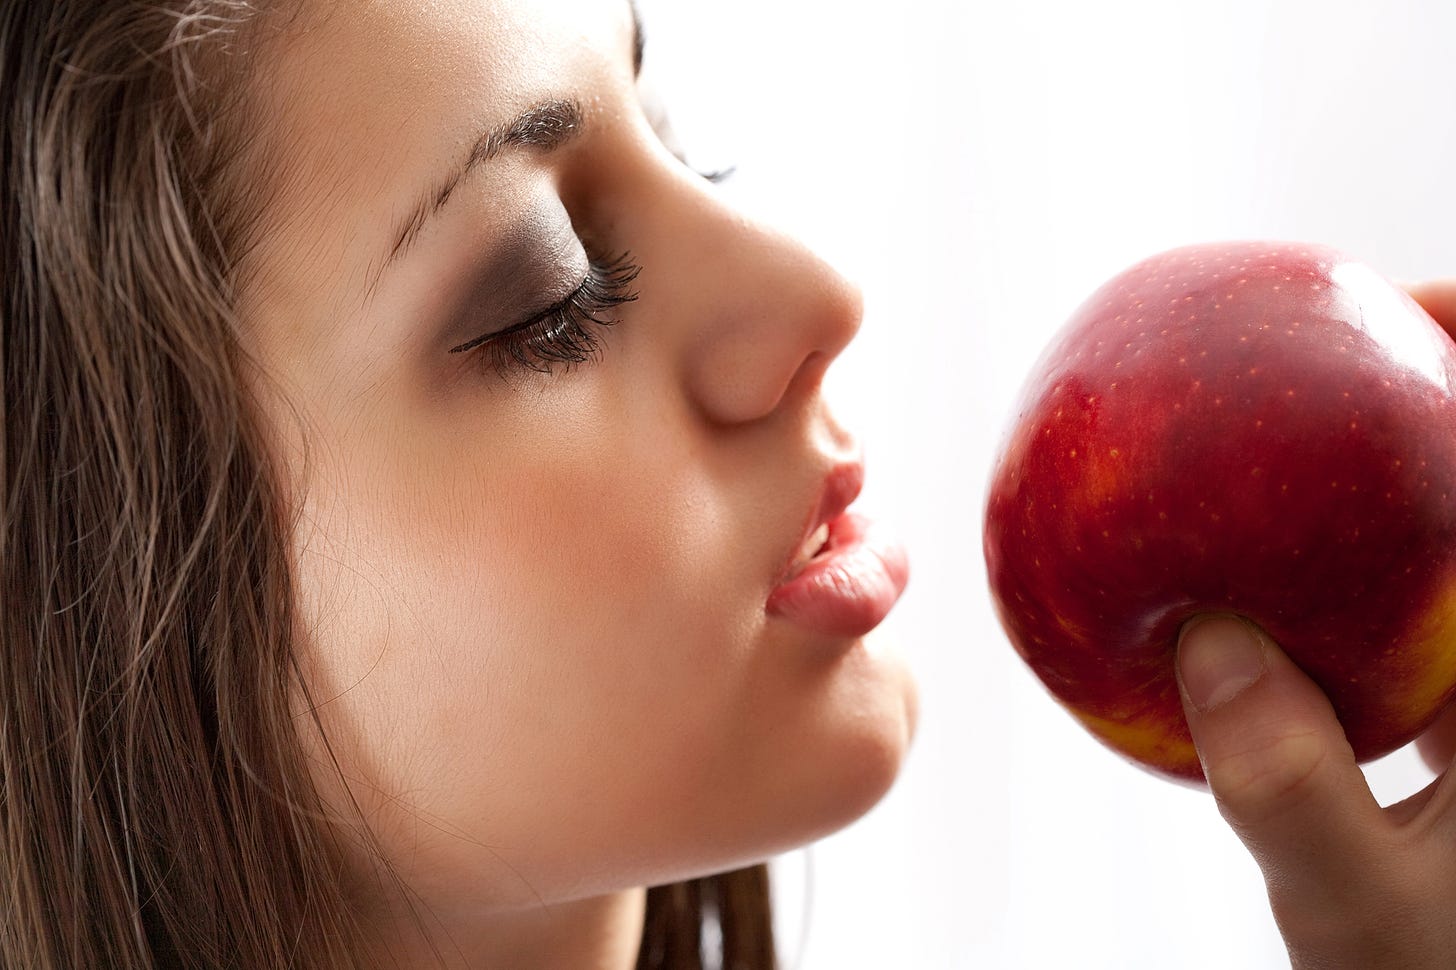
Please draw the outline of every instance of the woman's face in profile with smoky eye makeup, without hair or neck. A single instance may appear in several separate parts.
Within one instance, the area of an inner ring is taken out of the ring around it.
[[[914,693],[860,641],[906,565],[840,516],[820,396],[855,288],[664,149],[628,0],[309,13],[245,318],[306,677],[392,865],[435,912],[534,904],[863,813]]]

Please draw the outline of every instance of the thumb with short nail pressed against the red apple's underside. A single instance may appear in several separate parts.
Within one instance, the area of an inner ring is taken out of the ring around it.
[[[1318,906],[1386,824],[1329,701],[1235,616],[1185,626],[1178,682],[1208,786],[1271,899]]]

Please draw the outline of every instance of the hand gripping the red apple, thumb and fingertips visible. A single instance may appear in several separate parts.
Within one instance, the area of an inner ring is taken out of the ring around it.
[[[1456,332],[1456,281],[1411,287]],[[1449,967],[1456,953],[1456,711],[1418,740],[1439,773],[1382,807],[1328,699],[1262,631],[1197,618],[1178,651],[1219,810],[1264,872],[1296,970]]]

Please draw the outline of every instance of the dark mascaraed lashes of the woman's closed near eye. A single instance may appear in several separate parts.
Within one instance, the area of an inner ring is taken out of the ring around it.
[[[601,331],[614,326],[606,316],[638,299],[632,283],[642,268],[623,252],[609,259],[591,259],[585,278],[561,303],[504,331],[485,334],[450,348],[451,354],[475,352],[480,366],[499,376],[533,370],[549,374],[556,364],[581,364],[601,352]]]

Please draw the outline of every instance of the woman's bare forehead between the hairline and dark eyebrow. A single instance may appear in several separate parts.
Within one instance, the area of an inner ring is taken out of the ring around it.
[[[630,73],[632,22],[628,0],[306,3],[256,77],[271,185],[249,275],[357,287],[483,130]],[[298,272],[300,253],[317,265]]]

